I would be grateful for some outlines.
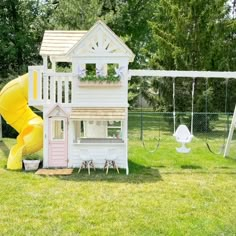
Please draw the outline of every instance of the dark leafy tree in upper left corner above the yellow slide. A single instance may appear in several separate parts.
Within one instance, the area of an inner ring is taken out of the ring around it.
[[[21,74],[38,55],[51,2],[2,0],[0,2],[0,76]]]

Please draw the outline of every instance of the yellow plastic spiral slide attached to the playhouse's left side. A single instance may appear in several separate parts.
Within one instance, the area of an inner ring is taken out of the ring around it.
[[[22,156],[43,147],[43,120],[28,106],[29,76],[25,74],[8,84],[0,92],[0,114],[19,135],[11,148],[7,168],[22,169]]]

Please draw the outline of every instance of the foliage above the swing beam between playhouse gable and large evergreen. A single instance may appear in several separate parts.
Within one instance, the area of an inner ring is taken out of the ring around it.
[[[116,1],[113,14],[104,16],[107,24],[134,52],[135,61],[131,67],[147,67],[145,50],[151,40],[148,21],[153,18],[158,2],[157,0]]]

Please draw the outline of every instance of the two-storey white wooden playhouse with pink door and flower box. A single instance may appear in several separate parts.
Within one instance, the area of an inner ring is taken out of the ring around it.
[[[132,51],[98,21],[89,31],[45,31],[40,55],[43,65],[29,67],[28,102],[43,111],[43,167],[79,168],[87,158],[103,168],[113,158],[128,174]],[[58,71],[60,63],[68,72]]]

